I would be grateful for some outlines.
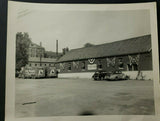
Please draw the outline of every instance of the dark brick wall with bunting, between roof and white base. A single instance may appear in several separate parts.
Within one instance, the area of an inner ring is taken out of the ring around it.
[[[138,58],[138,66],[130,67],[130,58]],[[69,62],[57,63],[56,68],[60,73],[76,73],[76,72],[95,72],[97,70],[105,71],[138,71],[138,70],[152,70],[152,54],[133,54],[125,56],[102,57],[92,60],[76,60]],[[100,68],[101,67],[101,68]],[[137,70],[135,70],[137,68]]]

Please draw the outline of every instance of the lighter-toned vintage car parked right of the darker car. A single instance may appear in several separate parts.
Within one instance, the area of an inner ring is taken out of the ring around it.
[[[121,71],[114,71],[109,75],[105,76],[106,80],[128,80],[129,76],[125,75]]]

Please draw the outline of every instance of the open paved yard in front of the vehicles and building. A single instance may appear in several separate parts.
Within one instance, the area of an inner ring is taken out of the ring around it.
[[[153,81],[16,79],[16,117],[153,115]]]

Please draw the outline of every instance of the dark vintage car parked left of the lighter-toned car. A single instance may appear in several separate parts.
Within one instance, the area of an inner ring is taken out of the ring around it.
[[[96,71],[94,73],[94,75],[92,76],[92,78],[94,80],[104,80],[105,77],[108,75],[109,73],[106,71]]]

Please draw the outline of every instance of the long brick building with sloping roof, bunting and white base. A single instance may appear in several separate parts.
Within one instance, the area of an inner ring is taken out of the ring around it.
[[[151,35],[70,50],[56,67],[59,77],[91,78],[97,70],[121,70],[132,79],[152,79]]]

